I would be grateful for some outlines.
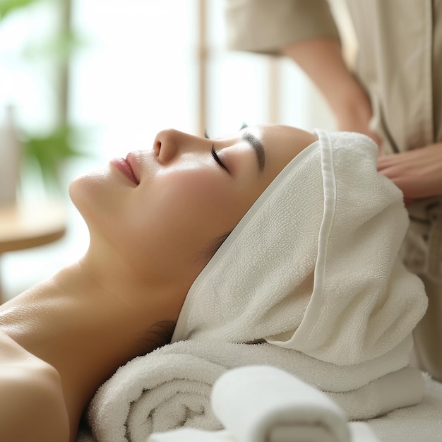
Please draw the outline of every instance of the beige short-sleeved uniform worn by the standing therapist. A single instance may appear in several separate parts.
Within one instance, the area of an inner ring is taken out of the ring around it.
[[[386,153],[442,141],[442,0],[347,0],[354,73]],[[277,54],[313,37],[339,39],[326,0],[226,0],[230,49]],[[415,330],[422,369],[442,381],[442,196],[409,205],[402,258],[424,280],[429,309]]]

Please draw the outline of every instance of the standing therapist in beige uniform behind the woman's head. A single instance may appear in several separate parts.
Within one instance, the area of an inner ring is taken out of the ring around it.
[[[378,169],[404,193],[402,246],[429,308],[416,363],[442,381],[442,0],[347,0],[359,52],[349,68],[326,0],[226,0],[230,49],[285,55],[323,93],[338,129],[380,145]]]

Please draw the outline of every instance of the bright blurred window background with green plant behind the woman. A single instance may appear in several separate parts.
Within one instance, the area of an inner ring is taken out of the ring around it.
[[[244,122],[335,124],[293,62],[226,49],[223,1],[0,0],[0,186],[16,161],[13,203],[32,202],[30,219],[46,201],[66,210],[61,239],[1,253],[4,298],[88,246],[68,199],[76,175],[150,147],[167,127],[216,137]]]

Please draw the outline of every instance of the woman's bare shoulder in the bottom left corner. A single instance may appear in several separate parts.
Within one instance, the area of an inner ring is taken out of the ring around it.
[[[68,441],[58,372],[1,331],[0,396],[1,441]]]

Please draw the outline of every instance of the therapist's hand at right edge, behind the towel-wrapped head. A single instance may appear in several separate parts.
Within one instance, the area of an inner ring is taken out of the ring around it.
[[[378,171],[404,193],[405,203],[442,195],[442,143],[378,158]]]

